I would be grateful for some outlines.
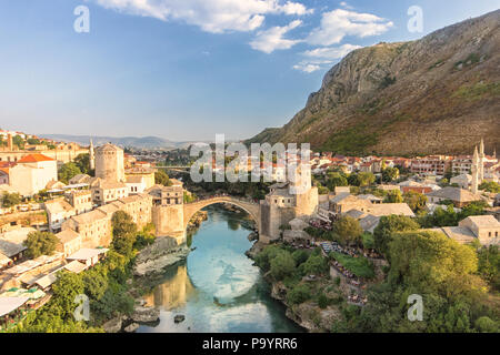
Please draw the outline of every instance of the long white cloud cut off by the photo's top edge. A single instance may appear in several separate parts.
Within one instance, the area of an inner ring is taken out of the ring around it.
[[[206,32],[252,31],[267,14],[312,13],[299,2],[282,0],[93,0],[100,6],[126,13],[163,21],[180,20]]]

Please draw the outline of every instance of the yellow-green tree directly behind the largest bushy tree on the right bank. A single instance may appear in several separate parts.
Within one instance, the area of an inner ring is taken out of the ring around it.
[[[382,216],[379,224],[373,231],[376,248],[388,256],[389,242],[396,232],[416,231],[420,225],[410,217],[404,215]]]

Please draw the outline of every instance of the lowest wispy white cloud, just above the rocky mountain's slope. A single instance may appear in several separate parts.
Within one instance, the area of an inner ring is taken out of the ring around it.
[[[309,50],[302,53],[302,55],[308,59],[301,61],[297,65],[293,65],[293,69],[312,73],[317,70],[324,69],[327,65],[331,67],[336,60],[346,57],[351,51],[359,48],[361,47],[354,44],[343,44],[340,47],[323,47]]]

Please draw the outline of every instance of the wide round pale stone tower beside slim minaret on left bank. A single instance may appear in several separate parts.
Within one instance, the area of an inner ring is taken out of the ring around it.
[[[111,143],[96,149],[96,178],[124,182],[123,150]]]

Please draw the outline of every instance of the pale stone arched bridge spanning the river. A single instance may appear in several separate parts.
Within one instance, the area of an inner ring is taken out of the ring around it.
[[[256,226],[259,230],[260,226],[260,207],[258,203],[249,202],[241,199],[236,199],[232,196],[219,196],[219,197],[212,197],[207,200],[201,200],[192,203],[186,203],[183,207],[183,229],[184,231],[188,227],[189,221],[191,221],[192,216],[200,211],[201,209],[204,209],[207,206],[210,206],[212,204],[218,203],[229,203],[232,204],[244,212],[247,212],[252,220],[256,222]]]

